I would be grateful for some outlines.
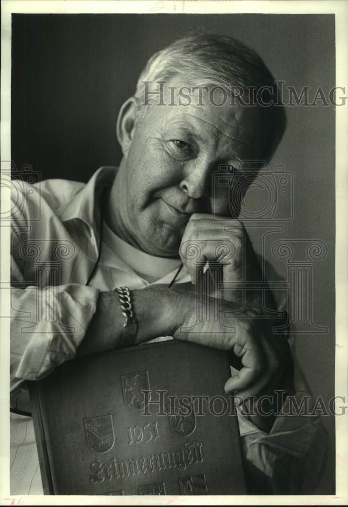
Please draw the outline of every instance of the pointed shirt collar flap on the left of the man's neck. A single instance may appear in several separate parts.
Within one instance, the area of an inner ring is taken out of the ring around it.
[[[100,237],[99,197],[103,190],[112,186],[116,172],[117,167],[114,166],[100,167],[85,187],[79,190],[67,205],[64,203],[57,210],[57,215],[62,222],[78,219],[87,224],[96,244]]]

